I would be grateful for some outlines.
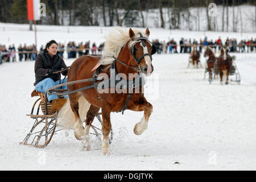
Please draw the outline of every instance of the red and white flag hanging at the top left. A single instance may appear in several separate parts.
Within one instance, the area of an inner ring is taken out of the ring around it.
[[[27,0],[27,19],[40,20],[40,0]]]

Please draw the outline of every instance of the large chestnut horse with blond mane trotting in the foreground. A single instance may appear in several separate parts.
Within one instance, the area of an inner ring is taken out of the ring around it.
[[[130,74],[148,76],[154,71],[152,55],[156,52],[155,46],[148,40],[150,31],[123,30],[121,27],[114,28],[106,36],[102,56],[82,56],[76,59],[68,72],[68,82],[93,78],[100,75],[112,77],[114,72],[122,73],[126,78]],[[95,71],[95,72],[94,72]],[[130,78],[130,77],[129,77]],[[105,79],[106,80],[106,79]],[[133,81],[133,78],[127,81]],[[108,80],[107,80],[108,82]],[[75,137],[82,140],[86,150],[90,150],[89,129],[93,119],[101,109],[102,114],[102,135],[103,141],[101,151],[107,155],[109,151],[109,133],[112,129],[110,113],[124,111],[144,111],[140,122],[134,126],[134,134],[141,135],[148,127],[148,120],[152,113],[152,105],[146,100],[143,93],[143,85],[135,88],[134,84],[129,89],[121,88],[122,92],[117,93],[113,88],[106,86],[99,88],[101,81],[83,82],[80,84],[68,85],[68,92],[88,85],[94,84],[94,88],[82,90],[81,92],[69,94],[69,100],[60,110],[61,122],[67,126],[73,125]],[[127,87],[128,88],[128,87]],[[135,92],[137,89],[137,92]],[[139,89],[139,90],[138,90]],[[104,92],[102,92],[104,90]],[[127,93],[129,90],[129,93]],[[108,91],[108,92],[105,92]],[[125,92],[126,91],[126,92]],[[85,128],[82,121],[85,118]]]

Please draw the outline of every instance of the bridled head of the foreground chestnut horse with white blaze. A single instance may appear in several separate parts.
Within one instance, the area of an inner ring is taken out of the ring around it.
[[[144,37],[140,32],[138,34],[139,36],[135,36],[134,31],[130,28],[130,64],[133,65],[133,67],[139,67],[142,73],[150,75],[150,73],[154,71],[152,55],[156,52],[156,48],[147,38],[150,35],[148,28],[146,30],[147,37]]]

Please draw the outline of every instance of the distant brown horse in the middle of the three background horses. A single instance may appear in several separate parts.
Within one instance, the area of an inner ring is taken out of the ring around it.
[[[207,56],[209,56],[207,60],[207,71],[209,72],[209,82],[212,82],[213,80],[212,72],[214,73],[214,77],[215,77],[214,64],[216,63],[216,57],[213,49],[210,48],[209,46],[205,47],[204,57],[207,57]]]

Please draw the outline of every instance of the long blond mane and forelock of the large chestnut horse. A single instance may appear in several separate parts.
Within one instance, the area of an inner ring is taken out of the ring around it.
[[[134,37],[139,38],[139,33],[141,33],[144,37],[148,38],[148,35],[145,33],[142,33],[139,30],[133,30],[134,31]],[[129,31],[124,30],[121,27],[115,27],[112,31],[109,32],[108,35],[105,36],[105,44],[104,44],[104,50],[103,54],[100,60],[100,63],[102,65],[110,64],[114,61],[114,57],[117,57],[119,55],[119,52],[121,51],[122,47],[126,45],[127,42],[129,42],[130,36]],[[133,41],[129,43],[129,48],[133,44]]]

